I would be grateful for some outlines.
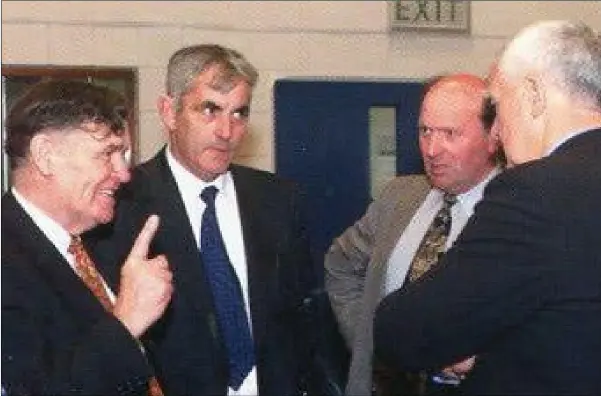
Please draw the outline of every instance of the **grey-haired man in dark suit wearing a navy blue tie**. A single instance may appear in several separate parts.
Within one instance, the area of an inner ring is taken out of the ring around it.
[[[133,171],[114,233],[98,245],[121,257],[141,219],[163,219],[152,250],[169,258],[175,291],[151,338],[167,394],[296,395],[315,369],[307,339],[319,328],[305,310],[317,275],[299,191],[231,164],[257,77],[220,45],[171,56],[158,100],[167,146]]]

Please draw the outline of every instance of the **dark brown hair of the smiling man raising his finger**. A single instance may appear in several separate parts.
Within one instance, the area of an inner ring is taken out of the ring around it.
[[[43,81],[25,91],[8,111],[4,150],[10,165],[18,167],[28,156],[31,139],[40,132],[91,122],[121,135],[127,118],[125,98],[117,91],[76,80]]]

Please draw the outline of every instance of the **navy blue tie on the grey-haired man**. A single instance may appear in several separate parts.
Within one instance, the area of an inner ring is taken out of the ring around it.
[[[217,323],[228,352],[228,384],[232,389],[238,390],[252,369],[255,356],[240,283],[227,256],[217,224],[217,192],[217,187],[208,186],[200,194],[207,205],[200,226],[200,254],[213,293]]]

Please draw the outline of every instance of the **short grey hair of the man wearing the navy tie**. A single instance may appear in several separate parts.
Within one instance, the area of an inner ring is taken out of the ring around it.
[[[182,96],[191,88],[199,74],[216,66],[217,75],[211,86],[228,92],[240,79],[254,87],[259,73],[246,58],[236,50],[217,44],[201,44],[176,51],[167,66],[167,94],[181,109]]]

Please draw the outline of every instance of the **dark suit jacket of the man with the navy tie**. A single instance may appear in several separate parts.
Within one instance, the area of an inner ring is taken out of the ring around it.
[[[299,195],[293,184],[270,173],[236,165],[231,172],[248,265],[259,393],[297,394],[302,363],[311,353],[306,340],[318,330],[308,328],[299,314],[316,284]],[[164,150],[135,169],[110,238],[97,244],[98,254],[109,252],[121,262],[152,213],[161,218],[152,253],[165,254],[174,274],[170,306],[149,334],[159,380],[167,395],[226,394],[227,358],[211,292]]]

